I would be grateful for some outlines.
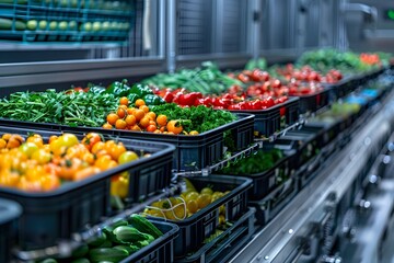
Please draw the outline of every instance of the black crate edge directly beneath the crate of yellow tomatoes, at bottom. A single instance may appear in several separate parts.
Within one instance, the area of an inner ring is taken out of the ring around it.
[[[222,232],[219,237],[211,242],[206,243],[201,249],[185,256],[182,260],[177,260],[178,263],[224,263],[251,240],[254,233],[254,217],[255,209],[248,208],[239,220]]]

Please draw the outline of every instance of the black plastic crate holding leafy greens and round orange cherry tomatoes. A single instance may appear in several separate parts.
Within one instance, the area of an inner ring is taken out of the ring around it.
[[[39,128],[46,130],[61,130],[70,133],[100,133],[119,138],[151,140],[172,144],[175,146],[173,169],[176,171],[197,170],[211,165],[223,158],[224,132],[229,132],[230,140],[233,141],[233,150],[242,150],[253,144],[254,116],[250,114],[236,114],[237,119],[220,126],[216,129],[194,136],[175,136],[153,133],[139,133],[121,129],[104,129],[91,127],[69,127],[67,125],[20,122],[0,118],[2,125],[24,128]]]

